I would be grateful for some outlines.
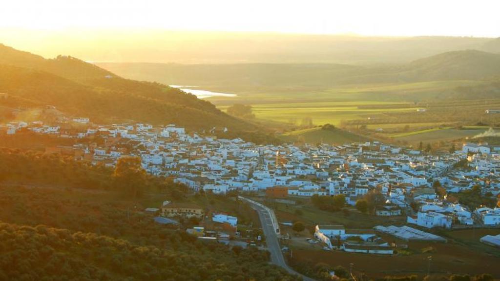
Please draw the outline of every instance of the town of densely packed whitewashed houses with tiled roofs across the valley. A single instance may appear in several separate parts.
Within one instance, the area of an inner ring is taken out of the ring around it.
[[[436,194],[434,181],[439,181],[446,193],[476,185],[481,186],[484,195],[493,197],[500,193],[499,149],[486,144],[466,143],[454,153],[429,155],[378,141],[255,145],[240,138],[217,138],[213,135],[216,128],[195,133],[174,124],[95,125],[83,117],[68,120],[75,125],[65,128],[40,121],[11,122],[6,125],[6,133],[22,128],[40,134],[84,138],[73,146],[46,150],[107,166],[114,166],[121,156],[137,156],[147,172],[171,176],[193,191],[262,192],[273,198],[342,194],[354,205],[357,199],[376,189],[386,200],[386,205],[375,210],[377,215],[402,215],[415,202],[420,208],[407,221],[426,227],[474,222],[474,216],[465,207],[447,203],[445,197]],[[455,164],[465,158],[469,168],[455,169]],[[498,215],[496,209],[484,209],[476,217],[483,224],[498,224]]]

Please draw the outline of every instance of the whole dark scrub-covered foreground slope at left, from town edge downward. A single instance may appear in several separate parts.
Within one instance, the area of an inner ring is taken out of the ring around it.
[[[294,280],[265,251],[205,244],[153,222],[123,180],[139,173],[140,190],[167,198],[185,190],[134,163],[113,171],[3,150],[0,280]]]

